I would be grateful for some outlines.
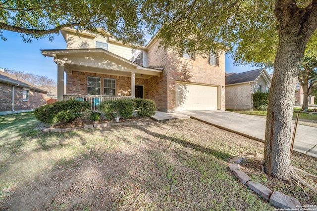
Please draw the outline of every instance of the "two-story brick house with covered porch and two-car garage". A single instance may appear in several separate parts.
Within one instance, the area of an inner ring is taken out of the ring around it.
[[[154,100],[164,112],[225,110],[224,52],[204,58],[164,50],[156,37],[133,49],[106,33],[76,34],[64,28],[61,34],[66,49],[41,50],[57,64],[58,100],[98,105],[106,99],[141,97]]]

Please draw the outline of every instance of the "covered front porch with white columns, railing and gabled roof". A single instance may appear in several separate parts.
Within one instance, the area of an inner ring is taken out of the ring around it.
[[[100,48],[42,50],[42,54],[57,64],[57,100],[85,100],[92,107],[105,100],[147,98],[148,80],[162,73]]]

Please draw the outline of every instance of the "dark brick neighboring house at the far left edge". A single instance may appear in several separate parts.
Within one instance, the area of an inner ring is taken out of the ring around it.
[[[0,115],[33,111],[46,105],[48,91],[4,73],[0,68]]]

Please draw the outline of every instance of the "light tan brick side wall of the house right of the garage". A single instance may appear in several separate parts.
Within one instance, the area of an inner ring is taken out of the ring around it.
[[[226,109],[252,109],[252,85],[238,84],[226,87]]]

